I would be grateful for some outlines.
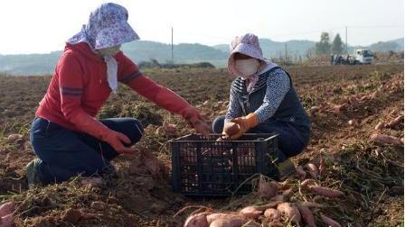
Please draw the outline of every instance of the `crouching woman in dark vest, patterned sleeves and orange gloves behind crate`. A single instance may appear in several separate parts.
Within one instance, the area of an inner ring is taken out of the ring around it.
[[[280,162],[302,152],[310,137],[309,117],[287,71],[263,58],[256,35],[248,33],[231,42],[228,70],[236,77],[230,105],[212,130],[225,140],[237,140],[245,132],[278,133]],[[231,132],[234,123],[238,127]]]

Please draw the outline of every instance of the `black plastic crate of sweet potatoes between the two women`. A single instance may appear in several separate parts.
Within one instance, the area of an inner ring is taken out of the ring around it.
[[[190,134],[171,140],[172,186],[184,195],[244,195],[255,174],[278,178],[278,134],[244,134],[216,141],[221,134]]]

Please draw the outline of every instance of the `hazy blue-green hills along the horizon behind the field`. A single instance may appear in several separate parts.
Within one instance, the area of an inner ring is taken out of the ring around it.
[[[287,54],[290,56],[305,55],[306,50],[315,46],[315,41],[271,41],[260,39],[260,46],[266,58],[284,56],[287,44]],[[404,49],[403,38],[393,41],[381,41],[369,46],[373,51],[399,51]],[[349,47],[349,52],[357,47]],[[155,41],[133,41],[123,45],[123,50],[129,58],[137,61],[156,59],[159,62],[171,60],[171,45]],[[229,44],[213,47],[199,43],[180,43],[174,45],[174,63],[195,63],[208,61],[216,67],[223,68],[229,53]],[[48,54],[18,54],[0,55],[0,72],[13,75],[42,75],[52,73],[61,56],[61,51]]]

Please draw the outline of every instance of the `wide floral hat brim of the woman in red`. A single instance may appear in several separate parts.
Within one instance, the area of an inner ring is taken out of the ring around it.
[[[137,32],[132,29],[129,23],[119,23],[99,32],[96,37],[96,45],[94,49],[99,50],[109,48],[136,40],[139,40],[139,36],[137,35]]]

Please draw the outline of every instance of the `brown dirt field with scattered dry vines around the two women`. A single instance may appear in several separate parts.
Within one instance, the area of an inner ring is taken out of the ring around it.
[[[318,226],[320,213],[343,226],[403,226],[403,145],[371,141],[372,133],[403,138],[403,120],[374,129],[403,115],[403,65],[287,68],[308,114],[313,136],[309,146],[294,159],[297,165],[316,162],[325,167],[316,182],[344,192],[325,198],[302,190],[297,177],[288,181],[288,201],[315,201],[312,211]],[[231,77],[221,69],[153,70],[146,74],[196,105],[208,121],[223,114]],[[238,211],[250,204],[265,204],[256,193],[225,199],[191,199],[175,195],[170,186],[170,138],[193,132],[178,117],[168,114],[120,86],[99,113],[100,118],[137,117],[146,137],[133,156],[118,157],[117,176],[100,186],[82,186],[81,178],[61,185],[27,189],[24,166],[34,158],[28,134],[38,102],[50,77],[0,77],[0,202],[14,201],[14,226],[181,226],[198,208]],[[344,105],[341,105],[344,104]],[[316,107],[315,107],[316,106]],[[155,133],[163,123],[174,132]],[[23,138],[8,139],[10,134]],[[402,140],[403,143],[403,140]],[[159,171],[145,165],[154,153]],[[155,174],[152,174],[155,173]],[[200,209],[200,211],[203,211]],[[79,217],[74,214],[79,213]],[[257,222],[262,222],[262,219]],[[264,222],[264,221],[263,221]],[[285,222],[288,226],[290,223]],[[264,225],[264,224],[263,224]],[[268,226],[268,225],[264,225]]]

